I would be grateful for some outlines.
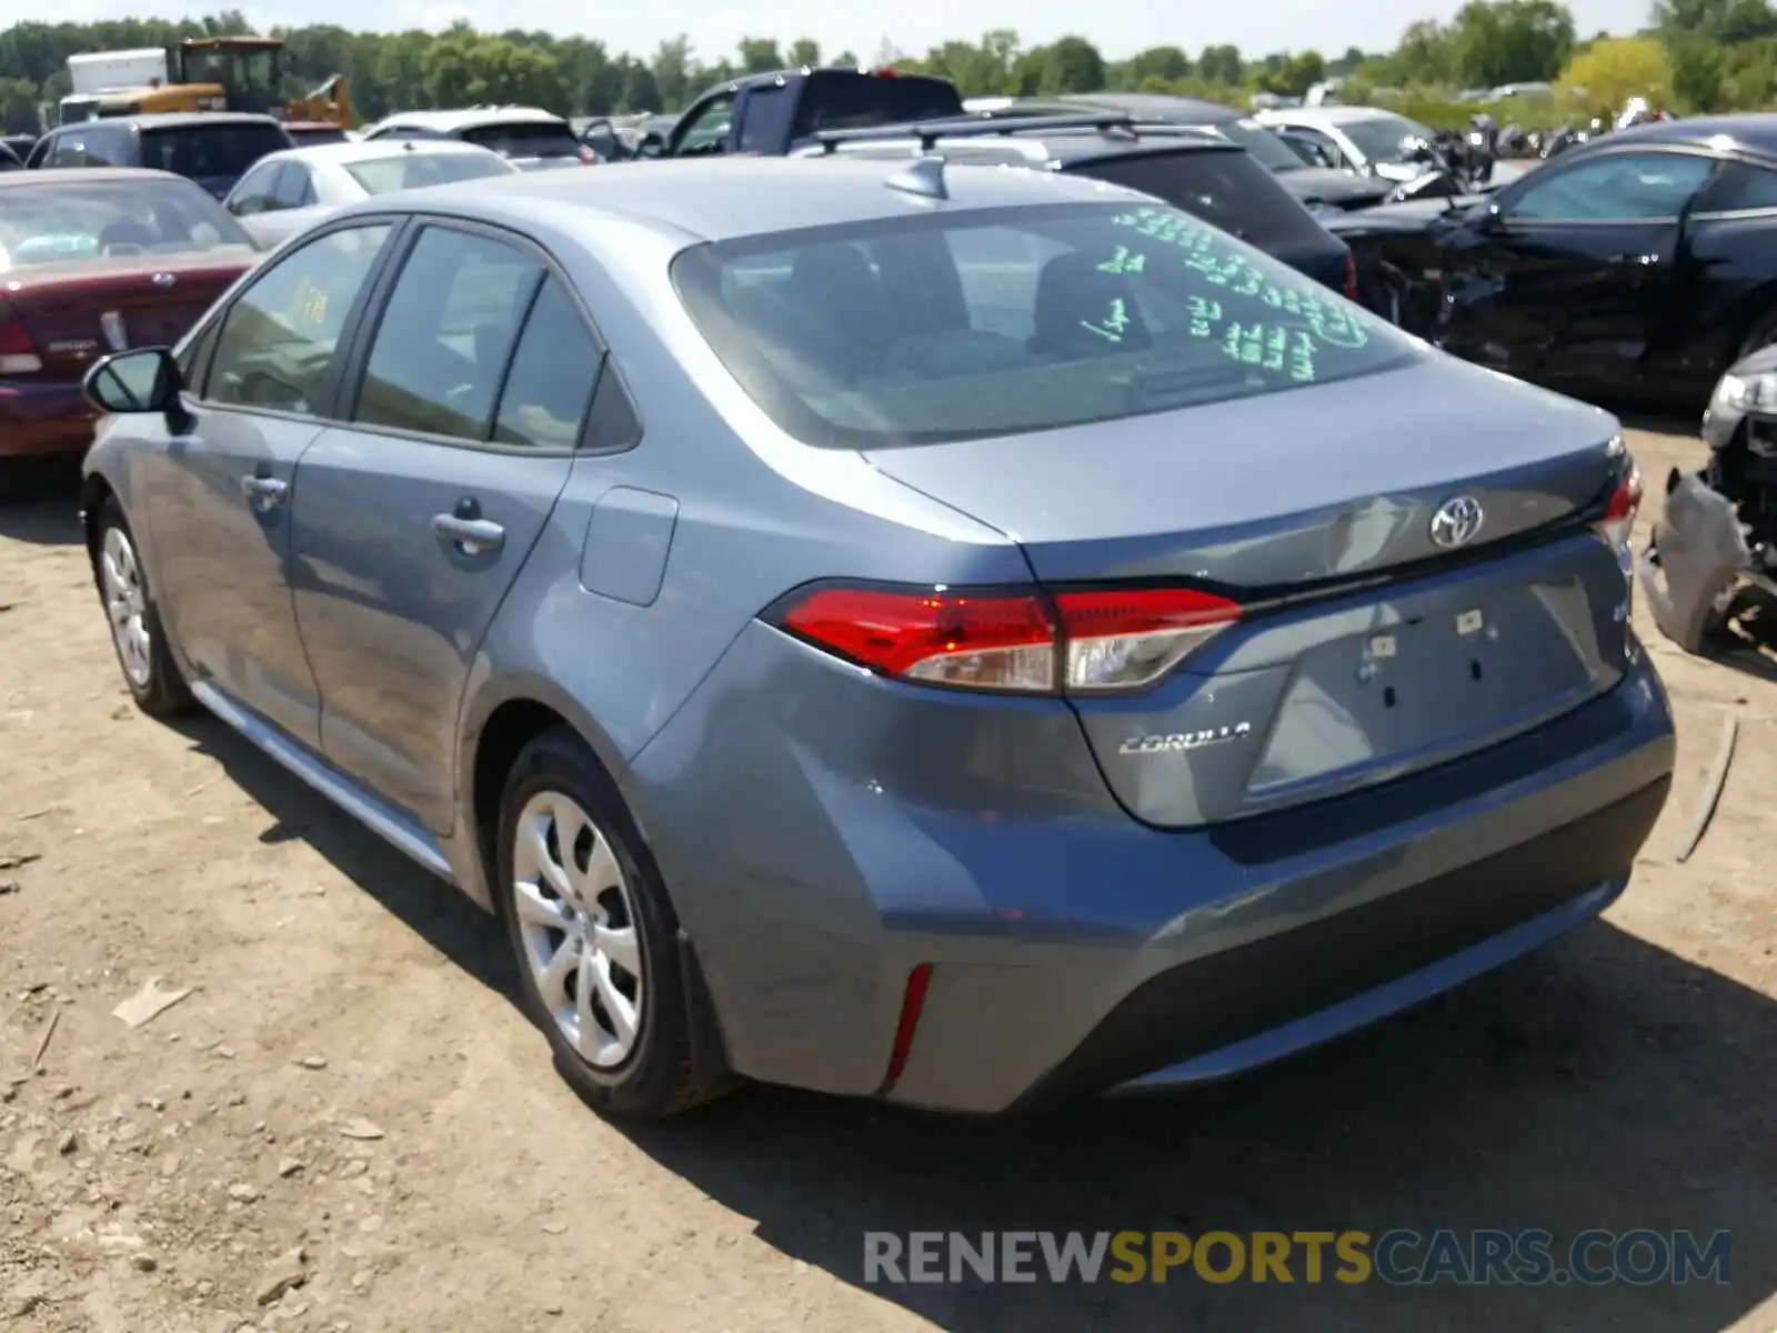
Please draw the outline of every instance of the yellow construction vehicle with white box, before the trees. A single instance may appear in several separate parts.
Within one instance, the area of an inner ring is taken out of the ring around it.
[[[352,94],[334,75],[284,101],[284,43],[275,37],[188,37],[165,50],[92,52],[68,59],[75,91],[60,123],[153,112],[270,112],[286,121],[352,126]]]

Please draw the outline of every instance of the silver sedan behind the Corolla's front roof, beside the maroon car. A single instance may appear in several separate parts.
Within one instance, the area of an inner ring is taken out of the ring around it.
[[[222,206],[256,242],[272,249],[334,208],[355,204],[373,194],[512,176],[517,171],[492,149],[455,140],[316,144],[259,158]]]

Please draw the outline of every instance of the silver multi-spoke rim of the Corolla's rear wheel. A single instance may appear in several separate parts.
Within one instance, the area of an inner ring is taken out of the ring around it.
[[[579,803],[542,791],[512,848],[512,906],[537,994],[595,1068],[622,1065],[641,1031],[641,942],[629,882]]]

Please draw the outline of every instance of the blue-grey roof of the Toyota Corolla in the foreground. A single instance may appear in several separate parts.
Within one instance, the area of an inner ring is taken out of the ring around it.
[[[546,222],[572,233],[586,222],[618,219],[691,243],[929,212],[931,199],[890,185],[903,172],[901,162],[862,156],[668,158],[597,171],[494,176],[426,187],[400,199],[414,201],[423,212],[496,220],[519,231]],[[945,212],[1148,199],[1084,176],[997,165],[951,165],[944,178]],[[387,213],[400,206],[382,196],[352,204],[348,212]]]

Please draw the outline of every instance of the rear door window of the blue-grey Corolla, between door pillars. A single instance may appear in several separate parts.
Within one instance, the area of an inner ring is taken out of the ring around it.
[[[426,227],[377,327],[355,419],[485,441],[542,265],[501,240]]]

